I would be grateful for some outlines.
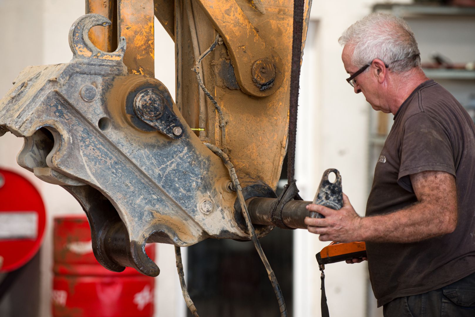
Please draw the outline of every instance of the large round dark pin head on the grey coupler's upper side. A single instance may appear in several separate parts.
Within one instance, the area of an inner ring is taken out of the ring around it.
[[[165,97],[154,88],[141,90],[133,99],[133,110],[141,119],[156,120],[163,115]]]

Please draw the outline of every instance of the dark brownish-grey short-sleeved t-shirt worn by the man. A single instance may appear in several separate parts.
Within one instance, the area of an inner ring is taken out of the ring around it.
[[[456,177],[458,221],[450,234],[414,243],[367,242],[371,285],[382,306],[441,288],[475,272],[475,125],[434,80],[419,85],[394,116],[374,172],[366,215],[417,202],[409,175]]]

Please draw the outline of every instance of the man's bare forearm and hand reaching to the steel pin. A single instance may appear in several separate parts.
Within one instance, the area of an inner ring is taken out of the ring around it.
[[[308,209],[324,219],[306,218],[308,231],[322,241],[416,242],[455,230],[457,194],[453,175],[427,171],[410,176],[418,202],[385,215],[361,218],[348,197],[339,211],[311,204]]]

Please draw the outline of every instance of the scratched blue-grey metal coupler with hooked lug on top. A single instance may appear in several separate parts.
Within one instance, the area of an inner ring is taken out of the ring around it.
[[[90,19],[95,20],[91,23]],[[104,18],[89,15],[78,19],[73,29],[102,23]],[[78,33],[83,32],[81,28]],[[158,268],[143,252],[150,236],[155,242],[180,246],[209,237],[247,239],[235,221],[235,194],[220,186],[221,179],[229,178],[228,171],[188,125],[184,125],[182,138],[172,140],[158,131],[138,129],[123,115],[125,106],[113,96],[120,96],[114,94],[117,90],[127,91],[126,79],[132,77],[122,58],[116,58],[125,45],[118,52],[106,53],[77,37],[73,33],[70,38],[75,52],[70,63],[22,71],[0,102],[0,125],[25,137],[18,159],[23,167],[33,172],[51,169],[43,179],[56,175],[55,183],[66,186],[86,208],[95,226],[92,233],[98,259],[110,269],[130,265],[152,275]],[[151,77],[136,75],[133,79],[134,84],[139,81],[166,89]],[[81,97],[86,85],[96,89],[92,101]],[[183,121],[176,107],[175,113]],[[98,123],[104,118],[108,125],[101,129]],[[94,197],[91,202],[89,196]],[[212,203],[206,213],[199,208],[204,200]],[[106,220],[103,213],[108,212],[114,221]],[[118,223],[125,228],[121,229],[125,256],[109,254],[114,258],[110,260],[104,240],[111,237],[103,231]]]

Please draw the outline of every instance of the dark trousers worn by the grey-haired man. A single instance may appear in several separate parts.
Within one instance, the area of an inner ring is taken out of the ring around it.
[[[383,306],[384,317],[475,317],[475,273],[424,294]]]

